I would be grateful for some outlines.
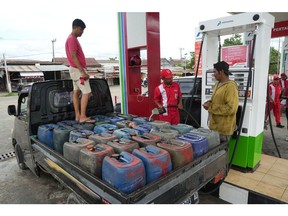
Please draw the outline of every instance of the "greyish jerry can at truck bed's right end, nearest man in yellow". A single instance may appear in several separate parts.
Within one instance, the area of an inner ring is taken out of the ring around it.
[[[207,137],[208,150],[220,144],[220,135],[217,131],[209,130],[206,128],[197,128],[197,129],[191,130],[189,133]]]

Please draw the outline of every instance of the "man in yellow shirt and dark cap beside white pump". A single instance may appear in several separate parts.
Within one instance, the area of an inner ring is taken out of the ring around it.
[[[225,61],[214,64],[214,77],[217,80],[210,100],[203,104],[209,112],[209,128],[218,131],[220,141],[229,141],[236,127],[238,109],[238,87],[229,80],[229,64]]]

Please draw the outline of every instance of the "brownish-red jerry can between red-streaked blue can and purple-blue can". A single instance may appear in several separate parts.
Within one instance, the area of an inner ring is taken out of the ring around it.
[[[157,143],[157,147],[169,152],[173,169],[177,169],[193,161],[193,148],[190,143],[171,139],[169,142]]]

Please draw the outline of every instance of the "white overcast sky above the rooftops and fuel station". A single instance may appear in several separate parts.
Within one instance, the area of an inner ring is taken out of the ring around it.
[[[6,59],[51,61],[53,39],[56,39],[55,57],[66,57],[65,40],[71,33],[72,21],[75,18],[80,18],[86,23],[84,34],[79,38],[86,57],[94,57],[96,60],[118,58],[117,12],[120,11],[160,12],[161,57],[179,59],[180,48],[183,48],[182,54],[194,51],[195,28],[200,21],[229,16],[226,11],[242,9],[233,8],[231,1],[193,2],[188,0],[70,0],[68,3],[59,0],[6,0],[1,2],[0,59],[5,54]],[[241,4],[245,5],[245,2],[248,4],[249,1],[243,0]],[[223,6],[228,3],[230,7]],[[251,6],[251,3],[249,5]],[[254,7],[261,9],[258,5]],[[247,8],[251,10],[251,7]]]

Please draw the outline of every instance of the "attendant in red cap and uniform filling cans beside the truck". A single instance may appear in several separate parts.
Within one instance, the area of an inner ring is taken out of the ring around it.
[[[170,122],[171,125],[180,123],[178,109],[183,109],[182,93],[178,83],[173,82],[173,74],[169,69],[161,70],[163,83],[154,90],[154,101],[161,110],[163,107],[166,113],[160,114],[161,121]]]

